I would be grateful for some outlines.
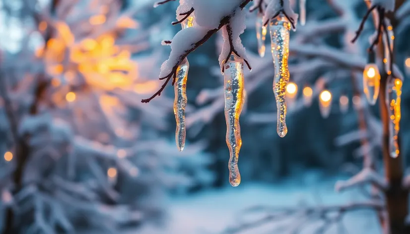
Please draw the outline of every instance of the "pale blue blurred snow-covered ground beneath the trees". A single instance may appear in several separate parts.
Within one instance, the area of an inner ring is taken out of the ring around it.
[[[334,184],[344,177],[327,177],[320,172],[308,172],[280,183],[247,184],[239,187],[210,190],[189,197],[173,199],[168,210],[168,222],[164,227],[145,227],[138,234],[220,234],[235,222],[243,210],[255,205],[267,207],[297,207],[303,204],[346,204],[363,200],[358,191],[337,193]],[[236,219],[235,219],[236,218]],[[375,214],[371,211],[349,213],[343,218],[348,234],[380,234]],[[241,234],[285,234],[273,231],[277,223],[269,222],[257,229]],[[292,224],[290,224],[291,226]],[[287,225],[289,226],[289,225]],[[307,234],[306,227],[301,234]],[[130,232],[131,233],[136,233]],[[338,234],[334,227],[326,234]],[[342,232],[341,232],[342,233]]]

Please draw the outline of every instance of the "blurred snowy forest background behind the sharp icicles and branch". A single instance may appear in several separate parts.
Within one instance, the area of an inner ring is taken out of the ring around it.
[[[306,25],[291,34],[290,79],[298,95],[284,138],[276,133],[272,57],[267,49],[259,58],[256,14],[249,13],[241,38],[253,71],[245,73],[242,182],[235,188],[228,181],[219,35],[188,57],[183,152],[175,146],[173,89],[149,104],[140,102],[161,85],[159,68],[170,51],[161,41],[180,30],[170,24],[178,2],[157,8],[153,3],[0,0],[3,234],[276,234],[291,233],[301,219],[312,225],[302,225],[300,233],[319,233],[321,214],[279,217],[271,211],[315,213],[315,207],[375,196],[364,185],[335,191],[337,181],[363,164],[383,173],[379,106],[366,102],[360,70],[374,32],[371,19],[350,44],[367,9],[363,0],[307,0]],[[395,60],[409,78],[409,0],[396,16],[401,23]],[[303,100],[305,85],[313,88],[310,105]],[[324,88],[333,95],[327,118],[318,102]],[[349,98],[347,111],[340,107],[342,95]],[[409,102],[405,80],[404,160],[410,156]],[[382,233],[378,214],[368,209],[348,213],[323,231]]]

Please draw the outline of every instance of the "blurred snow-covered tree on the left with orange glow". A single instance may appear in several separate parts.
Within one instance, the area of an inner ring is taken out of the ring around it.
[[[203,144],[181,157],[163,138],[172,102],[138,101],[159,86],[160,58],[139,56],[151,49],[140,8],[0,3],[2,233],[118,233],[159,221],[167,192],[212,180]]]

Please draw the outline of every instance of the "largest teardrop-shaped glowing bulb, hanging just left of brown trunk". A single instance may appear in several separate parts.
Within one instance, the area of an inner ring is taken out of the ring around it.
[[[363,71],[363,92],[367,101],[374,105],[379,97],[380,90],[380,72],[375,63],[369,63]]]

